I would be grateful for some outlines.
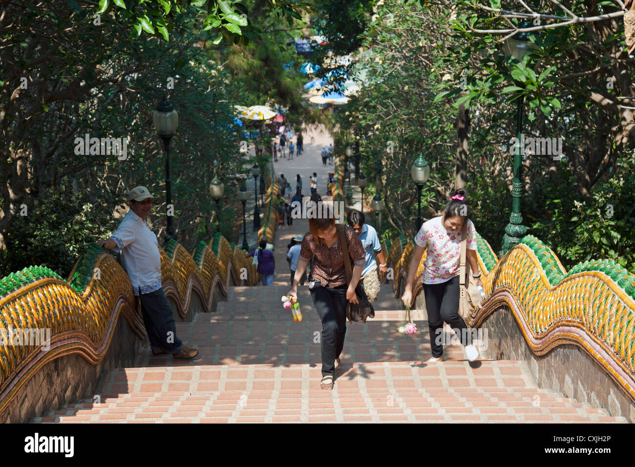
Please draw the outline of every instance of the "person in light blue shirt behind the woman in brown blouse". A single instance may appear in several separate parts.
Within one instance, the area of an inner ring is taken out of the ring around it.
[[[364,268],[361,271],[361,278],[359,281],[363,283],[366,295],[368,295],[368,301],[374,302],[377,300],[379,294],[379,275],[377,274],[377,261],[375,261],[374,252],[377,252],[377,259],[380,261],[379,270],[385,273],[386,261],[384,259],[384,253],[382,252],[382,244],[379,241],[379,236],[375,227],[368,226],[366,217],[363,212],[356,210],[349,211],[346,219],[349,222],[349,226],[358,234],[359,240],[364,245],[364,252],[366,252],[366,262]]]

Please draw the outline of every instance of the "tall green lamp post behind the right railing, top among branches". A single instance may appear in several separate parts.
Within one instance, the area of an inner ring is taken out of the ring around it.
[[[519,24],[520,28],[530,27],[528,20],[523,20]],[[523,61],[523,57],[527,55],[533,43],[529,39],[527,32],[517,32],[514,36],[509,37],[505,42],[505,57],[514,57],[519,62]],[[502,254],[507,253],[514,245],[522,240],[527,232],[527,227],[523,226],[523,216],[520,213],[520,201],[523,194],[523,184],[521,183],[520,171],[522,167],[521,161],[521,132],[523,131],[523,99],[524,96],[518,98],[518,107],[516,107],[516,153],[514,154],[514,181],[512,182],[512,213],[509,216],[509,224],[505,226],[505,234],[503,236]]]

